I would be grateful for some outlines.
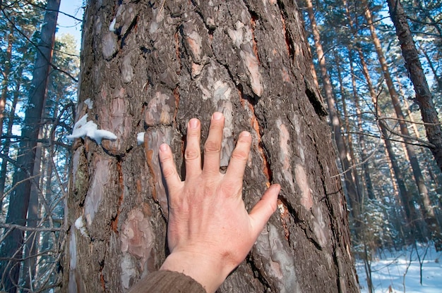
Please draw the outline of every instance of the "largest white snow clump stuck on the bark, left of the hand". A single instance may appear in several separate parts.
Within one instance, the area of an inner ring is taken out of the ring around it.
[[[76,138],[90,137],[94,139],[97,144],[101,144],[102,139],[115,140],[117,135],[107,130],[100,130],[98,126],[92,121],[87,121],[88,114],[80,118],[77,123],[73,126],[72,135],[68,135],[66,138],[73,140]]]

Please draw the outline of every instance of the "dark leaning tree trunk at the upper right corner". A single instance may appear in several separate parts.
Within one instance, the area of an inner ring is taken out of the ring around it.
[[[424,70],[419,60],[419,53],[414,45],[413,37],[410,32],[410,27],[407,23],[407,15],[405,15],[404,8],[399,0],[387,0],[390,17],[396,28],[396,35],[399,39],[400,48],[402,49],[402,56],[405,59],[405,68],[410,76],[410,80],[414,86],[416,93],[417,104],[422,114],[422,120],[425,124],[426,137],[429,142],[433,144],[430,147],[439,168],[442,170],[442,129],[441,123],[438,120],[438,113],[434,107],[433,97],[426,82]],[[434,213],[425,211],[426,213]],[[429,216],[429,218],[434,218]],[[437,225],[436,223],[431,225]],[[442,241],[442,239],[441,239]],[[442,242],[441,242],[442,249]]]

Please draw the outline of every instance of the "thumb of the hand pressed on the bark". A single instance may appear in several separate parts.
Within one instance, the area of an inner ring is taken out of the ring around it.
[[[276,211],[277,195],[280,193],[281,186],[274,184],[265,190],[261,200],[253,206],[249,217],[251,226],[253,227],[253,235],[258,238],[258,235],[263,230],[270,216]]]

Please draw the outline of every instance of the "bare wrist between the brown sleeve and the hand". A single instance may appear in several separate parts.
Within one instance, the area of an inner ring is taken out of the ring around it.
[[[188,275],[200,283],[206,292],[213,293],[230,273],[230,270],[220,266],[222,261],[217,257],[187,251],[173,252],[167,256],[160,270],[172,270]]]

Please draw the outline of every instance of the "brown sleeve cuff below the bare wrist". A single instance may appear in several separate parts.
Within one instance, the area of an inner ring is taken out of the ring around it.
[[[149,273],[131,287],[129,293],[207,293],[200,283],[187,275],[170,270]]]

